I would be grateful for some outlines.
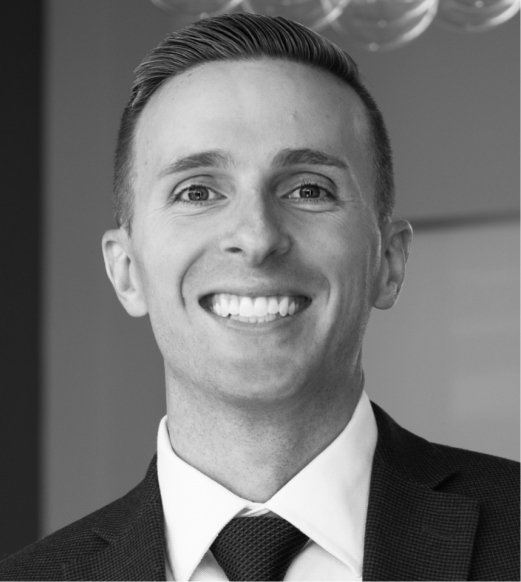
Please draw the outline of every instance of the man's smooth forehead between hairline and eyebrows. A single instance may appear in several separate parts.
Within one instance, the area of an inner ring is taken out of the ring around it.
[[[299,147],[363,165],[368,131],[361,99],[326,71],[276,59],[207,63],[152,95],[136,127],[135,170],[139,179],[173,157],[212,149],[260,163]]]

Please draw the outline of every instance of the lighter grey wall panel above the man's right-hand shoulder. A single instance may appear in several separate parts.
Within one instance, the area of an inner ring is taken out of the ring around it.
[[[369,396],[429,440],[519,460],[518,306],[517,222],[418,231],[369,322]]]

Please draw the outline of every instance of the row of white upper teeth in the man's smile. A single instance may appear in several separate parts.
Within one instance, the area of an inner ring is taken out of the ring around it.
[[[299,297],[272,295],[269,297],[244,297],[228,293],[216,293],[210,302],[212,311],[221,317],[276,319],[276,316],[293,315],[301,307]],[[269,317],[272,316],[272,317]]]

